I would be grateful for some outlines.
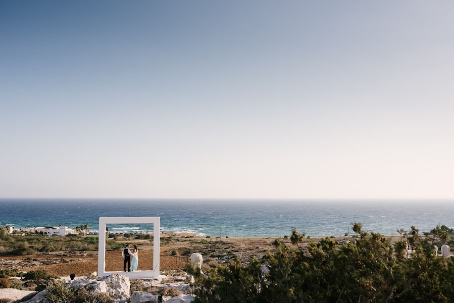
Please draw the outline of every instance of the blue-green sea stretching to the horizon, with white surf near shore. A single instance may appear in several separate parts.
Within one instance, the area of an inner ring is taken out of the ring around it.
[[[99,217],[161,217],[161,230],[230,237],[278,237],[293,228],[311,236],[351,233],[351,223],[382,234],[416,226],[454,227],[454,201],[411,200],[170,200],[0,199],[0,224],[36,228],[59,224],[97,230]],[[143,224],[109,225],[110,232],[152,231]]]

